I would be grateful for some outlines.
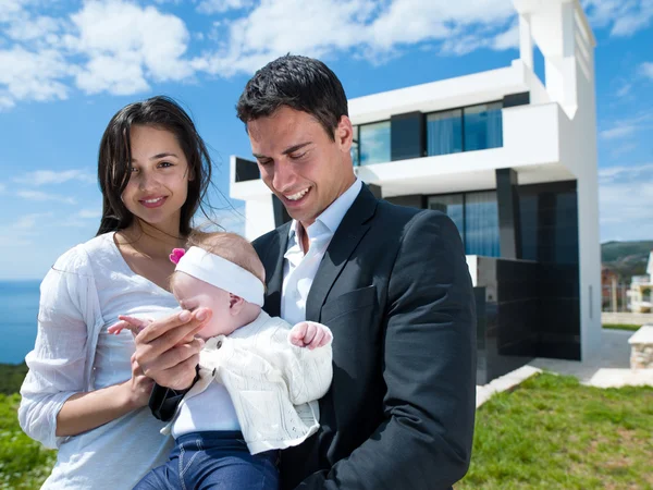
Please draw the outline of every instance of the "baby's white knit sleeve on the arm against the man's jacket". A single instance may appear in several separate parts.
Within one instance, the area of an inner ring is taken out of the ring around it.
[[[272,354],[270,362],[281,370],[288,385],[293,405],[321,399],[329,391],[333,378],[331,355],[333,335],[326,345],[311,351],[292,344],[288,334],[289,329],[286,328],[278,328],[274,331],[272,335],[274,347],[268,353]]]

